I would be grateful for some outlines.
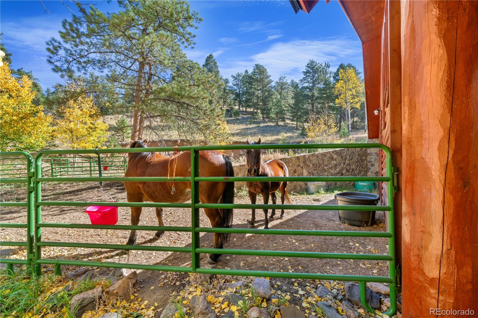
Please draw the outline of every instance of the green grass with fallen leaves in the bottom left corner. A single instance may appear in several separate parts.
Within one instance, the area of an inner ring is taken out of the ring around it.
[[[97,281],[87,279],[75,282],[69,291],[60,290],[43,299],[43,294],[57,286],[60,280],[60,276],[30,276],[23,270],[13,274],[2,271],[0,273],[0,316],[25,317],[27,313],[38,315],[43,309],[47,313],[55,313],[65,307],[67,317],[74,317],[74,312],[70,311],[71,298],[93,289]],[[65,282],[61,283],[65,284]]]

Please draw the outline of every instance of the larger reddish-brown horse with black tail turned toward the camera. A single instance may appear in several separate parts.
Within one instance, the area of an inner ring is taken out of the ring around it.
[[[130,148],[147,148],[147,140],[134,141]],[[130,152],[125,177],[170,177],[171,182],[126,181],[124,187],[128,202],[182,203],[191,199],[190,182],[173,182],[175,177],[191,176],[191,152],[185,151],[172,157],[163,157],[157,152]],[[176,158],[174,158],[176,157]],[[199,176],[233,177],[234,171],[228,156],[219,151],[199,151]],[[174,185],[174,191],[173,189]],[[199,182],[199,201],[202,203],[234,203],[234,182]],[[232,209],[204,209],[212,227],[230,227]],[[131,207],[131,224],[140,222],[141,207]],[[163,226],[163,208],[156,208],[159,226]],[[163,236],[158,231],[152,240]],[[222,248],[229,239],[226,233],[214,233],[214,248]],[[131,230],[127,244],[135,244],[136,231]],[[210,254],[208,263],[214,264],[220,254]]]

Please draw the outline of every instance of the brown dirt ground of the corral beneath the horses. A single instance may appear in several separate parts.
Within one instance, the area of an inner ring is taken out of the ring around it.
[[[105,183],[105,191],[116,201],[126,201],[126,192],[122,183]],[[43,185],[43,201],[90,201],[99,190],[94,183],[48,183]],[[24,189],[10,188],[1,191],[1,201],[24,201]],[[258,203],[261,199],[258,200]],[[236,203],[250,203],[246,192],[239,191]],[[333,194],[293,195],[295,204],[336,204]],[[0,210],[1,223],[24,223],[26,221],[23,208],[2,207]],[[280,211],[279,211],[280,212]],[[280,214],[280,213],[279,213]],[[276,216],[277,216],[276,212]],[[164,225],[190,226],[190,209],[164,209]],[[256,212],[256,227],[263,227],[263,213]],[[234,225],[237,228],[247,228],[246,221],[250,219],[250,210],[234,210]],[[53,223],[90,223],[84,207],[42,207],[42,222]],[[118,224],[130,224],[130,209],[119,208]],[[157,219],[154,208],[143,208],[140,225],[156,225]],[[209,220],[201,210],[200,226],[210,226]],[[385,231],[383,212],[377,212],[376,223],[367,228],[358,228],[340,223],[337,211],[285,211],[283,220],[274,220],[269,223],[271,229],[303,229],[303,230],[335,230],[335,231]],[[154,232],[138,231],[137,244],[163,246],[191,246],[191,235],[188,233],[165,232],[156,242],[147,243]],[[59,229],[43,228],[42,240],[53,242],[80,242],[125,244],[129,231],[125,230],[90,230],[90,229]],[[1,240],[23,241],[25,231],[21,229],[1,229]],[[202,233],[201,247],[212,247],[213,234]],[[324,236],[289,236],[263,234],[231,234],[226,248],[260,249],[278,251],[306,251],[306,252],[333,252],[333,253],[363,253],[388,254],[388,240],[385,238],[352,238],[352,237],[324,237]],[[2,249],[11,248],[2,246]],[[4,251],[5,252],[5,251]],[[87,248],[58,248],[43,247],[43,258],[76,259],[109,261],[119,263],[157,264],[190,266],[191,255],[186,253],[168,253],[152,251],[130,251],[128,254],[119,254],[116,250],[98,250]],[[11,257],[24,257],[25,251],[17,249]],[[206,265],[206,254],[201,254],[201,265]],[[219,258],[218,268],[243,270],[267,270],[284,272],[350,274],[388,276],[388,262],[340,259],[304,259],[272,256],[222,255]],[[73,266],[64,266],[64,272],[73,269]],[[101,271],[107,271],[101,269]],[[186,286],[188,274],[142,271],[139,274],[141,282],[140,296],[150,302],[165,305],[172,292]],[[289,280],[277,279],[287,284]],[[289,282],[290,283],[290,282]],[[164,284],[163,286],[159,286]],[[154,286],[154,289],[151,287]]]

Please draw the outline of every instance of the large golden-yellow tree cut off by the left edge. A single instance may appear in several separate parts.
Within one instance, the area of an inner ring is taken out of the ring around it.
[[[36,151],[51,139],[51,116],[43,106],[32,104],[32,81],[23,75],[17,80],[8,63],[0,66],[0,149]]]

